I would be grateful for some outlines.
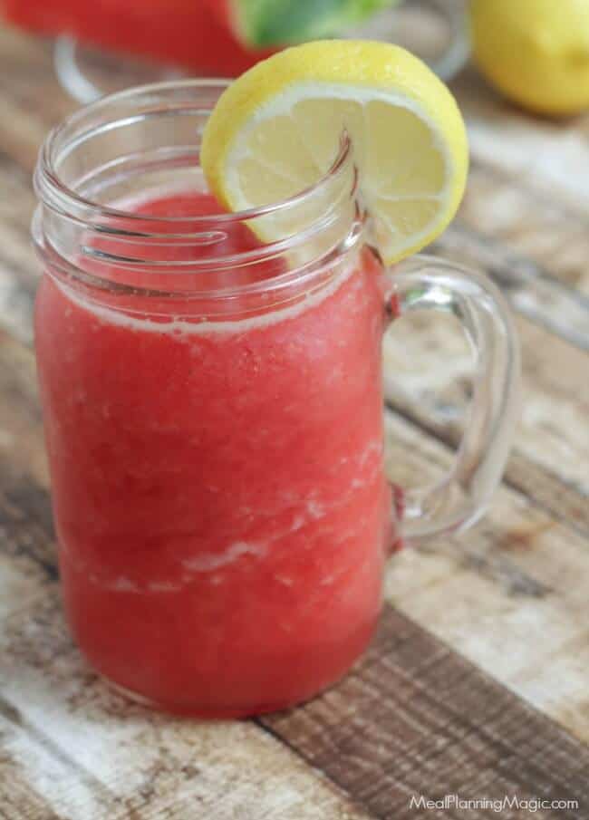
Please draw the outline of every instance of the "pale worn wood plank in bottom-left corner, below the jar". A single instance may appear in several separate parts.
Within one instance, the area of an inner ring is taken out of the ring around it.
[[[253,723],[170,719],[107,690],[56,584],[3,619],[0,650],[8,820],[369,820]]]

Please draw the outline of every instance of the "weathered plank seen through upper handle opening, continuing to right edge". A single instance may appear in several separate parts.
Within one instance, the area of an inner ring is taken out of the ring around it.
[[[516,317],[522,345],[521,417],[506,479],[555,517],[589,532],[589,354]],[[449,316],[411,314],[384,343],[392,409],[456,444],[472,357]]]

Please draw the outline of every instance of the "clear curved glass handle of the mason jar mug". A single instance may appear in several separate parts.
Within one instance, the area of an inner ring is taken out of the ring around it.
[[[410,311],[454,314],[475,353],[468,423],[449,475],[404,496],[406,543],[465,529],[500,481],[518,408],[519,345],[509,308],[486,276],[430,256],[385,271],[391,321]]]

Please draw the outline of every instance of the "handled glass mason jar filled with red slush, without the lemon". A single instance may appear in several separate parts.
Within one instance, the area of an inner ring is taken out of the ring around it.
[[[397,297],[463,299],[478,347],[499,325],[485,383],[500,398],[514,375],[488,283],[432,262],[392,272],[368,245],[349,139],[303,192],[281,197],[269,173],[274,205],[224,212],[198,164],[223,89],[94,103],[53,132],[35,175],[35,344],[68,620],[105,679],[205,717],[309,698],[370,641],[400,535],[381,388]],[[496,483],[505,402],[475,393],[464,460],[436,509],[410,494],[403,535],[466,523]]]

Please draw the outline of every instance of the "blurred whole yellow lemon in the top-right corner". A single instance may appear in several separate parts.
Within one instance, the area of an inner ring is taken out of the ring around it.
[[[473,53],[489,82],[532,111],[589,109],[589,0],[472,0]]]

